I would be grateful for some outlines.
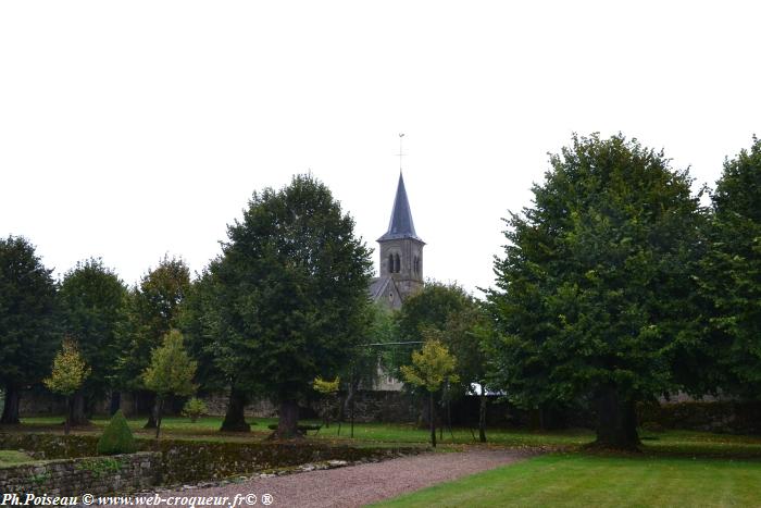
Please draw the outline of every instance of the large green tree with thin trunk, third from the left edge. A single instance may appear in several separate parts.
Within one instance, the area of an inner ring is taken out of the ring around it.
[[[180,258],[164,258],[149,270],[125,300],[117,335],[122,356],[116,369],[122,389],[146,395],[142,372],[151,359],[151,351],[161,345],[170,330],[178,327],[179,308],[190,288],[190,270]],[[152,398],[152,396],[150,396]],[[146,428],[155,428],[154,402]]]

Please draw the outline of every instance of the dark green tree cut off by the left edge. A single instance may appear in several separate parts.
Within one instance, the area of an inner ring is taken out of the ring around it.
[[[0,238],[0,423],[18,423],[22,389],[48,375],[60,344],[50,273],[26,238]]]

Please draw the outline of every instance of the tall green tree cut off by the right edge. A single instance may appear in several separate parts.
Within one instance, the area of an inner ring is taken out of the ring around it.
[[[761,140],[726,160],[712,195],[700,294],[716,383],[725,393],[758,398],[761,388]]]

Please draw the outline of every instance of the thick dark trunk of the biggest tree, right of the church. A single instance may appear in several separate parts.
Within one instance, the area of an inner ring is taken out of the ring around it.
[[[622,399],[614,385],[607,385],[597,392],[595,402],[597,406],[595,446],[636,450],[639,446],[639,436],[634,400]]]

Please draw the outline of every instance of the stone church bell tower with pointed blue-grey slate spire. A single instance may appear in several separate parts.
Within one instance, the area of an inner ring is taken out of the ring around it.
[[[399,173],[388,231],[377,239],[380,251],[379,276],[370,284],[373,301],[400,309],[404,299],[423,287],[423,241],[415,233],[404,178]]]

